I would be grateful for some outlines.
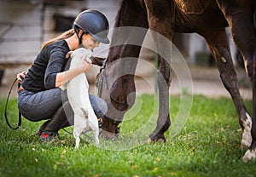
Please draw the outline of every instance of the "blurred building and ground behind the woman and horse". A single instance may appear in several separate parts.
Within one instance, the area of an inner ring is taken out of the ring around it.
[[[119,0],[0,0],[0,97],[9,93],[11,83],[20,71],[27,71],[38,54],[41,44],[63,31],[72,28],[73,20],[84,9],[97,9],[105,14],[113,27],[119,9]],[[241,55],[233,43],[229,28],[230,49],[239,78],[242,97],[251,99],[250,83],[243,69]],[[110,36],[111,38],[111,36]],[[224,88],[218,74],[218,68],[199,35],[175,34],[173,43],[183,54],[189,65],[193,79],[194,94],[211,97],[230,96]],[[107,48],[100,45],[99,50]],[[102,54],[101,57],[107,57]],[[143,60],[155,65],[154,54],[143,49]],[[151,65],[138,63],[136,77],[138,94],[154,94],[155,71]],[[99,72],[98,66],[92,66],[88,75],[90,93],[95,94],[94,82]],[[148,85],[145,87],[145,84]],[[172,80],[171,94],[179,94],[178,81]],[[14,90],[12,96],[16,96]]]

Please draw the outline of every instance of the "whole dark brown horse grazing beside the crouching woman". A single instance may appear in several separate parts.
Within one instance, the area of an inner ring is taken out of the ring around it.
[[[255,0],[125,0],[120,4],[115,27],[137,26],[163,35],[170,41],[174,32],[196,32],[204,37],[218,65],[218,70],[224,87],[229,91],[236,106],[239,123],[242,128],[241,146],[249,147],[244,161],[256,158],[256,71],[255,71]],[[232,37],[241,51],[248,77],[253,86],[253,118],[249,116],[238,89],[236,71],[234,69],[228,38],[224,27],[230,26]],[[130,43],[136,38],[142,44],[146,33],[136,31],[113,32],[111,48],[106,61],[101,97],[108,103],[108,114],[103,117],[103,130],[109,138],[117,133],[125,111],[128,111],[135,101],[134,76],[137,62],[124,60],[112,66],[113,61],[126,57],[138,58],[142,45]],[[158,49],[171,56],[170,43],[160,37],[153,37]],[[118,44],[122,41],[121,44]],[[124,44],[125,43],[125,44]],[[170,53],[170,54],[168,54]],[[165,141],[165,132],[171,125],[169,117],[169,88],[171,84],[171,59],[164,60],[158,56],[159,85],[159,117],[157,125],[149,141]],[[124,72],[124,71],[129,71]],[[126,73],[126,74],[125,74]],[[115,77],[121,76],[121,77]],[[164,79],[160,79],[163,76]],[[165,83],[165,84],[163,84]]]

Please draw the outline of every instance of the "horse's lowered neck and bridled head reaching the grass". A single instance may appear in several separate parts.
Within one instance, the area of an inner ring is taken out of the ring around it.
[[[133,6],[134,3],[137,3]],[[99,96],[107,102],[108,112],[102,117],[102,135],[113,138],[119,133],[119,123],[123,121],[125,112],[133,106],[136,98],[134,74],[144,37],[148,32],[148,22],[143,3],[139,1],[123,1],[116,16],[112,30],[108,57],[102,71],[98,74],[97,88]],[[138,4],[139,3],[139,4]],[[132,4],[132,5],[131,5]],[[130,5],[129,15],[126,14]],[[143,27],[139,30],[131,26]]]

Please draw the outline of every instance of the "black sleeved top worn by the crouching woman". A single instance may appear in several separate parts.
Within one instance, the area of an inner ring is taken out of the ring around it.
[[[58,72],[65,71],[67,65],[66,54],[69,52],[67,42],[60,40],[50,43],[40,51],[26,77],[22,87],[34,93],[55,88]]]

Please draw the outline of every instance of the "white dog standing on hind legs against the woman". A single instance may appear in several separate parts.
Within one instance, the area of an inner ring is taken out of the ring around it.
[[[92,52],[89,49],[79,48],[71,54],[70,68],[73,69],[87,56],[86,61],[91,63],[90,56]],[[80,134],[92,130],[95,135],[96,146],[99,145],[99,127],[97,117],[90,105],[89,83],[85,73],[79,74],[72,80],[61,86],[62,90],[67,88],[67,98],[74,112],[73,137],[76,140],[76,148],[79,148]]]

